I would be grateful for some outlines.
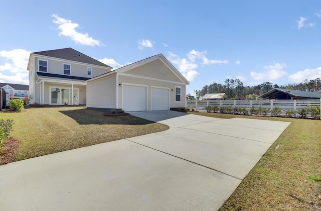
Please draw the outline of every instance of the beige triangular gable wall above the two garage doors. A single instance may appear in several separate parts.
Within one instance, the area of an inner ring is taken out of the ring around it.
[[[125,72],[126,74],[139,75],[150,78],[177,81],[181,80],[161,60],[156,59]]]

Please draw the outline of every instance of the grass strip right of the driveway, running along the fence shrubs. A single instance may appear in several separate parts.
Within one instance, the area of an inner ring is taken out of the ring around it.
[[[192,114],[291,122],[221,210],[321,210],[321,121]]]

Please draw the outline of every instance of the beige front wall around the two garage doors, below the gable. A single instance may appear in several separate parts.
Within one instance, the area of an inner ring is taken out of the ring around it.
[[[143,78],[136,78],[136,77],[129,77],[124,75],[119,75],[118,83],[132,83],[132,84],[141,84],[147,85],[147,110],[150,111],[151,109],[151,86],[158,86],[158,87],[166,87],[170,88],[170,108],[185,108],[186,102],[186,85],[180,83],[171,83],[171,82],[164,82],[164,81],[157,81],[157,80],[148,80]],[[175,102],[175,86],[181,87],[181,102]],[[122,104],[122,86],[118,86],[118,105],[121,107]],[[173,89],[173,91],[172,91]]]

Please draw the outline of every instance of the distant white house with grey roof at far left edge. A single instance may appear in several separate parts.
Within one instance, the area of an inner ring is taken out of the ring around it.
[[[0,88],[6,91],[6,104],[9,103],[9,98],[24,99],[29,95],[29,86],[14,83],[0,83]]]

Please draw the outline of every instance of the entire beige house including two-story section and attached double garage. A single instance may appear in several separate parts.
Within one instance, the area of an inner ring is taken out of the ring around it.
[[[161,111],[186,106],[188,80],[157,54],[111,71],[72,48],[30,54],[31,104],[86,104],[88,108]]]

